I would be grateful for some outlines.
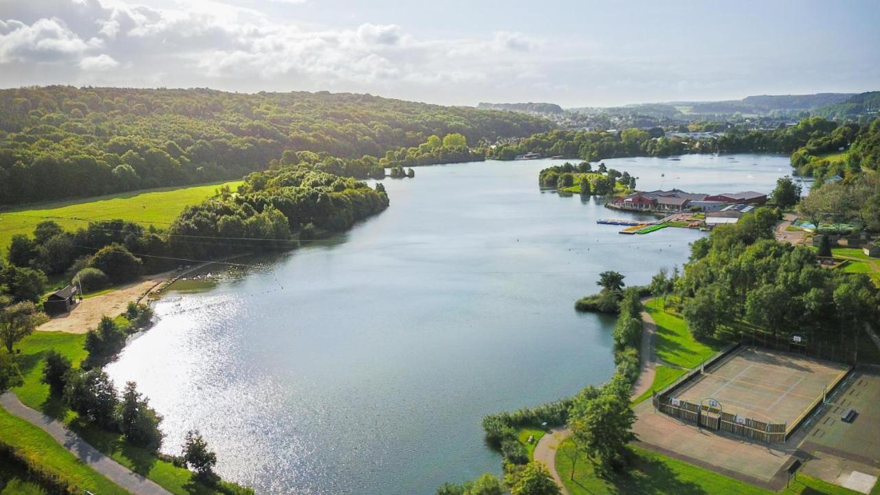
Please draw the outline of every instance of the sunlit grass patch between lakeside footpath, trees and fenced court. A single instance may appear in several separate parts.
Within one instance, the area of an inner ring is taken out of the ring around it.
[[[651,299],[645,309],[656,321],[655,351],[658,358],[673,366],[693,368],[721,349],[720,343],[702,343],[687,330],[687,323],[679,316],[666,313],[663,301]]]

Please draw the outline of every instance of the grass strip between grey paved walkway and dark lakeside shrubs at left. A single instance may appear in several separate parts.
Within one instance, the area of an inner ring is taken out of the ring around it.
[[[117,322],[123,321],[118,320]],[[12,391],[26,406],[66,422],[71,430],[77,432],[92,447],[97,448],[128,469],[150,478],[163,486],[165,490],[179,495],[208,495],[218,492],[215,488],[198,482],[188,469],[175,467],[171,462],[160,461],[156,454],[149,450],[129,445],[122,439],[121,434],[107,432],[80,421],[77,414],[68,410],[59,398],[49,395],[48,386],[40,383],[43,359],[46,353],[49,350],[55,350],[67,356],[74,366],[78,366],[80,361],[86,357],[86,352],[83,349],[84,342],[84,334],[34,332],[32,335],[26,336],[16,346],[21,349],[18,362],[22,374],[25,376],[25,383],[21,387],[13,388]],[[122,385],[117,383],[116,387],[121,388]],[[2,411],[8,415],[5,410]],[[57,446],[55,440],[51,441]],[[231,484],[224,484],[224,486],[229,493],[237,491],[237,487]],[[101,491],[101,493],[109,493],[109,491]]]

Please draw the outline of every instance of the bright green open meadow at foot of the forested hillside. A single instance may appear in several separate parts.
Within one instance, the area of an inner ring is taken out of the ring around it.
[[[216,182],[190,188],[159,188],[109,196],[96,196],[59,203],[30,205],[0,212],[0,251],[5,252],[12,236],[33,234],[43,220],[53,220],[67,230],[88,225],[90,220],[117,219],[155,223],[159,228],[172,222],[184,207],[202,203],[224,184],[233,190],[243,181]]]

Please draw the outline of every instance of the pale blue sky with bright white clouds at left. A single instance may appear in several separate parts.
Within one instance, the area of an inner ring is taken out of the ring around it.
[[[876,0],[0,0],[0,87],[605,107],[880,90]]]

